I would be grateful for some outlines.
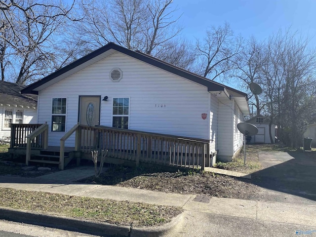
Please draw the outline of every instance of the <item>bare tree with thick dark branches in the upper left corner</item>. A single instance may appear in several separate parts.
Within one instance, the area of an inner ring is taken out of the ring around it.
[[[60,30],[70,20],[72,7],[53,0],[0,1],[2,80],[8,61],[14,72],[11,76],[18,84],[39,79],[60,67],[56,45],[62,38]]]

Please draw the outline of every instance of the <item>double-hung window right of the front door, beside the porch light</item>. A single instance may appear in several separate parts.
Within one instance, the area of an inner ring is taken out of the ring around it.
[[[113,127],[128,129],[129,98],[113,98]]]

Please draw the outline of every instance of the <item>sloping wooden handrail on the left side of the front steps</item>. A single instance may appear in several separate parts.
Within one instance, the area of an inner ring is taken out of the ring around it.
[[[31,149],[34,148],[42,148],[47,149],[48,146],[48,124],[41,124],[36,130],[30,133],[27,138],[26,144],[26,161],[25,164],[29,165],[29,161],[31,159]],[[34,147],[34,141],[40,140],[40,143],[37,147]]]

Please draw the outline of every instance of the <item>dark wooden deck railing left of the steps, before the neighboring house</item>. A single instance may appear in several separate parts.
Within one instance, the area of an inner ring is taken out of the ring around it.
[[[27,136],[34,132],[42,124],[11,124],[11,141],[10,148],[14,147],[25,147],[27,144]],[[35,137],[31,141],[32,148],[41,148],[42,146],[42,135]]]

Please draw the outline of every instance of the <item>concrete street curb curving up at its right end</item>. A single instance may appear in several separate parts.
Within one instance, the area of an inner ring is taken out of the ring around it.
[[[163,226],[130,227],[0,206],[0,219],[98,236],[106,234],[113,237],[159,237],[180,225],[182,216],[183,213],[179,214]]]

